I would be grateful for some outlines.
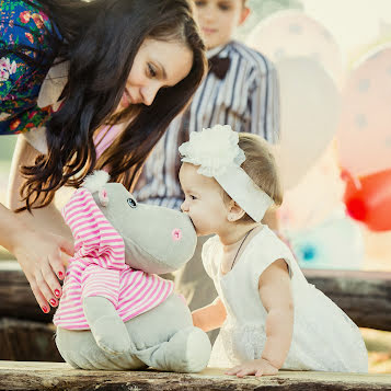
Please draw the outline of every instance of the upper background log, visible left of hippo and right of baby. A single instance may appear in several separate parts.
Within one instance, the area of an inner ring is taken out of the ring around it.
[[[391,273],[306,269],[309,283],[361,327],[391,331]],[[16,262],[0,262],[0,318],[49,323]]]

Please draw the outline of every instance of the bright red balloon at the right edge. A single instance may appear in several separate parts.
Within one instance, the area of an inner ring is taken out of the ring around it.
[[[342,179],[346,182],[347,214],[372,231],[391,230],[391,169],[357,180],[343,171]]]

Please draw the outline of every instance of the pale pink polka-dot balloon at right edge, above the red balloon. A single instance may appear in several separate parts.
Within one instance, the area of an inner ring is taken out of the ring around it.
[[[391,168],[391,46],[353,69],[342,96],[337,130],[341,165],[353,175]]]

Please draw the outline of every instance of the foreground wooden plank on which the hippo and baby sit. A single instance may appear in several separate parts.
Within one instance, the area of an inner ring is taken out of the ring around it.
[[[0,390],[391,391],[391,375],[280,371],[274,377],[238,379],[217,368],[185,375],[153,370],[89,371],[60,363],[0,361]]]

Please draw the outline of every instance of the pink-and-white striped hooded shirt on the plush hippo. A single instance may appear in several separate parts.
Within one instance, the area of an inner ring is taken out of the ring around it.
[[[108,299],[124,322],[163,302],[173,283],[135,271],[125,264],[125,244],[95,204],[91,193],[79,188],[62,216],[72,230],[76,253],[70,260],[62,297],[54,317],[57,326],[89,330],[82,300]]]

